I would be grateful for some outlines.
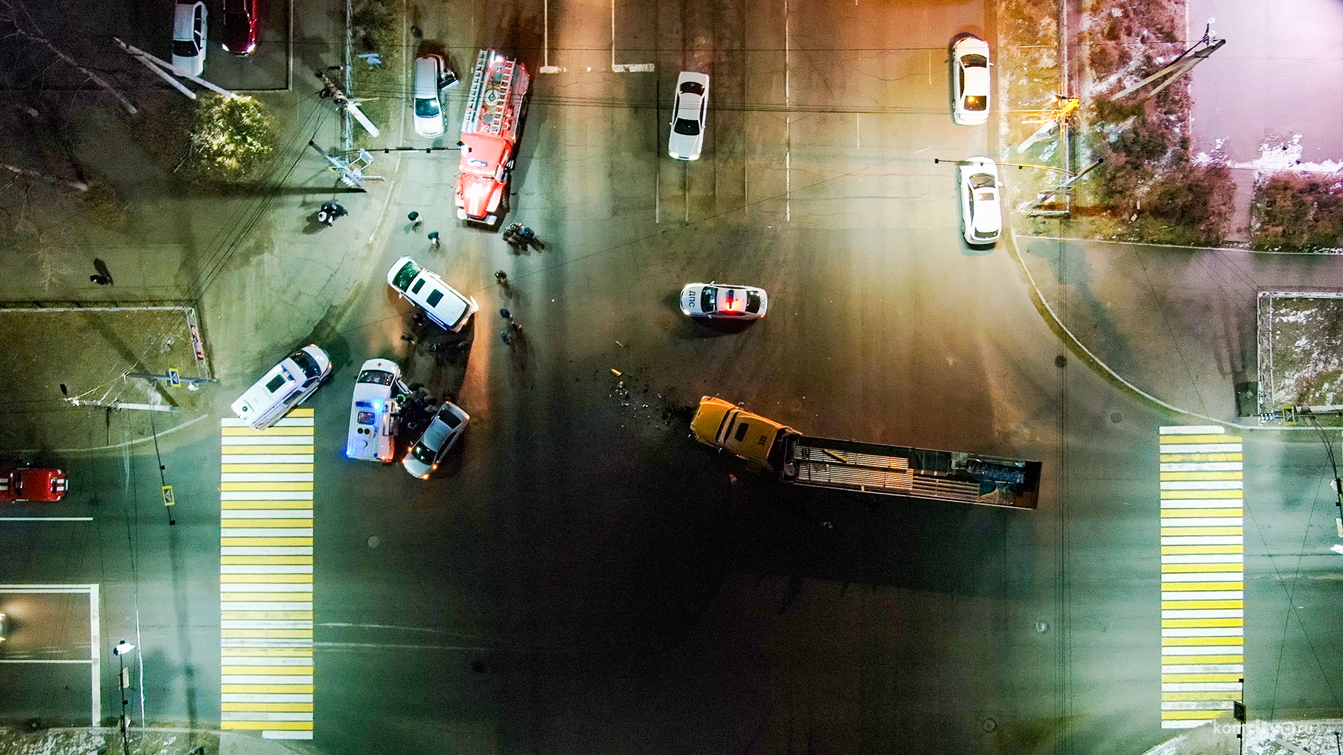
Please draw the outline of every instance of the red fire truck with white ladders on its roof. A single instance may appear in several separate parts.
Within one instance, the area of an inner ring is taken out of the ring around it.
[[[526,118],[526,66],[494,50],[475,56],[471,90],[462,117],[462,165],[457,173],[457,216],[498,223],[508,211],[513,149]]]

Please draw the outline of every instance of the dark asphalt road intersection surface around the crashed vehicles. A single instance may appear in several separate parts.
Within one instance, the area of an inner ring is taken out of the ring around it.
[[[1163,739],[1156,429],[1176,420],[1066,353],[1006,249],[959,240],[954,175],[933,157],[995,148],[947,101],[947,44],[994,39],[984,7],[416,12],[458,60],[493,44],[567,69],[536,79],[506,219],[547,249],[512,254],[459,226],[455,154],[407,156],[385,189],[385,243],[359,261],[369,283],[325,318],[314,309],[310,337],[337,365],[308,403],[320,750],[1132,752]],[[604,73],[612,59],[657,69]],[[713,77],[694,164],[663,156],[681,67]],[[458,99],[449,122],[459,113]],[[403,227],[410,210],[419,231]],[[479,300],[469,352],[428,352],[445,337],[416,332],[381,285],[403,254]],[[764,286],[770,316],[686,321],[676,293],[709,279]],[[513,348],[500,306],[525,325]],[[427,482],[341,458],[355,371],[373,356],[473,415]],[[220,416],[255,373],[223,378]],[[1039,510],[782,486],[686,438],[704,394],[818,435],[1041,459]],[[218,454],[214,418],[165,441],[171,527],[153,504],[158,461],[137,453],[67,465],[79,488],[60,510],[93,521],[0,529],[3,582],[101,583],[107,648],[138,619],[150,721],[219,720]],[[1317,642],[1330,563],[1285,562],[1324,552],[1323,463],[1317,442],[1246,447],[1246,500],[1273,533],[1246,539],[1248,631],[1265,637],[1248,643],[1252,707],[1338,708],[1343,658]],[[67,634],[87,621],[70,611]],[[79,642],[48,656],[87,657]],[[68,669],[24,673],[32,699],[7,715],[87,717]]]

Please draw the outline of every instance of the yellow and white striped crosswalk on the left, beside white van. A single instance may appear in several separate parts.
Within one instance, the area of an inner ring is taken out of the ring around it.
[[[220,426],[220,728],[312,739],[313,410]]]

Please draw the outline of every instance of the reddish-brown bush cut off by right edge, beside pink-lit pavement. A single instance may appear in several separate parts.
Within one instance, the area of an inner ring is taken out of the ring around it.
[[[1343,179],[1285,173],[1256,184],[1250,243],[1266,251],[1343,246]]]

